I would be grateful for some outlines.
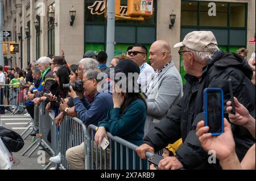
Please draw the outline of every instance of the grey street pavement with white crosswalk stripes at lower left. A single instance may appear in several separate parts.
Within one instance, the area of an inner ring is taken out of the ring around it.
[[[30,116],[24,115],[0,115],[0,120],[2,121],[2,126],[8,129],[15,131],[16,133],[22,134],[23,131],[26,130],[24,128],[26,124],[31,120]],[[30,131],[27,131],[27,133]],[[23,138],[27,135],[24,134]],[[39,164],[40,158],[42,158],[43,150],[37,149],[30,158],[27,157],[28,154],[34,149],[30,149],[24,156],[21,154],[24,150],[26,150],[32,144],[32,137],[28,136],[26,140],[24,140],[24,146],[18,153],[13,153],[14,157],[14,166],[13,170],[43,170],[46,164]],[[46,155],[46,162],[49,160],[49,154],[44,151]],[[41,155],[41,157],[40,157]]]

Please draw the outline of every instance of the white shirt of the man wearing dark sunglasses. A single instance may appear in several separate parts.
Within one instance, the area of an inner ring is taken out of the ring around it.
[[[150,82],[155,70],[147,63],[144,63],[139,69],[141,69],[141,73],[139,74],[138,83],[141,84],[142,92],[146,92],[147,84]]]

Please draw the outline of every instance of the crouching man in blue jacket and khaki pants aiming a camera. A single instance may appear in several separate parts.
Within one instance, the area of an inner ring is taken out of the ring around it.
[[[69,96],[73,98],[79,119],[86,126],[97,125],[98,121],[105,119],[108,110],[113,106],[112,94],[110,92],[98,92],[97,85],[101,80],[97,79],[100,69],[90,69],[84,73],[82,82],[84,90],[88,95],[94,95],[95,99],[90,104],[82,94],[77,95],[72,86],[69,87]],[[104,104],[102,104],[104,103]],[[84,169],[84,143],[70,148],[66,152],[66,159],[71,170]]]

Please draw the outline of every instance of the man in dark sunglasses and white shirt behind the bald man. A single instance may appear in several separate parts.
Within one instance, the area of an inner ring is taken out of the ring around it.
[[[155,73],[154,69],[146,63],[147,47],[141,44],[133,45],[133,48],[127,52],[130,60],[133,60],[139,65],[141,73],[139,74],[138,83],[141,85],[142,92],[146,92],[146,88],[152,74]]]

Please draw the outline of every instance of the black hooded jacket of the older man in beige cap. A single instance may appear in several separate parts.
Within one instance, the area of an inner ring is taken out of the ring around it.
[[[185,75],[187,83],[184,95],[170,110],[167,119],[161,121],[144,142],[155,150],[163,149],[182,137],[183,145],[177,150],[176,158],[185,169],[220,169],[218,164],[209,164],[206,151],[201,148],[196,136],[195,117],[203,112],[203,91],[207,87],[222,88],[224,91],[224,116],[226,102],[230,100],[228,79],[232,79],[234,96],[255,117],[255,86],[251,83],[253,72],[247,62],[237,54],[216,52],[203,69],[201,79]],[[241,159],[255,140],[245,128],[232,124],[238,158]]]

